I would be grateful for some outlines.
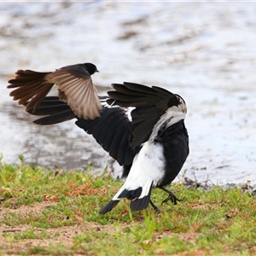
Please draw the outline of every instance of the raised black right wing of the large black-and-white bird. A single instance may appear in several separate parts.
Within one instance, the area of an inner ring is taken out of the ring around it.
[[[172,92],[157,86],[127,82],[112,86],[114,90],[108,91],[108,104],[135,107],[131,111],[131,148],[145,143],[160,117],[172,105],[177,105],[177,97]]]

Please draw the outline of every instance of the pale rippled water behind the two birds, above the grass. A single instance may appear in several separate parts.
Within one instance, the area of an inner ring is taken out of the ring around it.
[[[0,3],[3,161],[96,170],[109,159],[71,120],[40,127],[12,102],[17,69],[96,64],[103,95],[123,81],[160,85],[188,105],[186,175],[256,183],[256,3]]]

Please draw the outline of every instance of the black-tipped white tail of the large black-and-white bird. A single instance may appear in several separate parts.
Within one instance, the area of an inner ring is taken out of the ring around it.
[[[113,196],[113,199],[108,202],[105,207],[102,207],[100,214],[110,212],[122,198],[131,200],[130,208],[131,212],[140,211],[148,207],[150,201],[152,183],[145,183],[143,187],[137,187],[136,189],[128,188],[127,183],[119,189],[119,192]]]

